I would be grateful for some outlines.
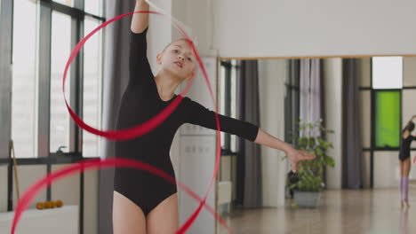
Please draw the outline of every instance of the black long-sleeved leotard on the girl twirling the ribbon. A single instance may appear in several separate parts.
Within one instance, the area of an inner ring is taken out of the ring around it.
[[[117,129],[126,129],[148,121],[160,113],[173,98],[164,101],[159,97],[154,75],[148,64],[146,34],[131,32],[130,80],[117,116]],[[176,98],[175,95],[174,98]],[[116,142],[116,157],[146,162],[161,168],[174,177],[170,148],[173,136],[183,123],[208,129],[217,129],[215,113],[190,98],[183,98],[178,108],[156,129],[147,135],[128,141]],[[221,131],[254,141],[259,127],[219,115]],[[148,214],[164,199],[177,191],[176,185],[157,175],[132,168],[116,168],[114,190],[123,194]]]

